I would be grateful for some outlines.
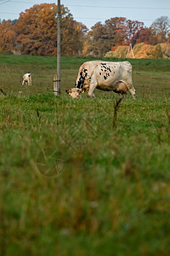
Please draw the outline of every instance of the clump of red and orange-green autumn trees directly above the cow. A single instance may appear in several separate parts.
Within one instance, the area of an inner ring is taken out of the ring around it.
[[[105,24],[97,22],[88,32],[83,54],[105,55],[106,52],[118,45],[135,44],[135,35],[144,27],[143,22],[115,17],[105,20]]]

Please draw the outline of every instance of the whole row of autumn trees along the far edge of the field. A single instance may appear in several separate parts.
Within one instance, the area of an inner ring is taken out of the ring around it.
[[[108,56],[119,57],[127,55],[129,44],[136,58],[141,57],[138,49],[144,51],[144,58],[169,58],[170,20],[161,16],[146,27],[138,20],[114,17],[104,24],[97,22],[88,30],[61,5],[62,55],[104,56],[109,52]],[[0,53],[56,55],[57,6],[37,4],[22,12],[19,20],[0,22]]]

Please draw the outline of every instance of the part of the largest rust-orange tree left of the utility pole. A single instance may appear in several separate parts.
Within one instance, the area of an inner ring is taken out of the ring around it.
[[[55,9],[54,4],[40,4],[26,9],[25,13],[20,14],[15,30],[17,33],[16,43],[20,44],[22,54],[54,54]]]

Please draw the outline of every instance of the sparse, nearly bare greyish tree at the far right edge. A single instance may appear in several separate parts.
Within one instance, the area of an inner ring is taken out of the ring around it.
[[[170,32],[170,20],[167,16],[161,16],[151,24],[150,28],[157,36],[158,43],[165,43]]]

